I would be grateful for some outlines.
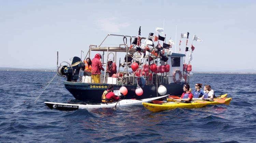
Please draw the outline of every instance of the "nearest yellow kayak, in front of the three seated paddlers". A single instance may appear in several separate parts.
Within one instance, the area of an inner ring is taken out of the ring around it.
[[[196,100],[196,101],[192,101],[191,103],[167,102],[163,104],[151,104],[151,103],[143,102],[142,105],[152,112],[158,112],[158,111],[170,110],[175,108],[201,108],[206,105],[217,105],[217,104],[229,105],[231,99],[232,98],[225,98],[224,103],[220,103],[216,99],[215,101]]]

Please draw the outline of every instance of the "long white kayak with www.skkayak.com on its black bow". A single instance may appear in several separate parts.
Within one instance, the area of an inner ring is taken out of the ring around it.
[[[68,104],[68,103],[54,103],[54,102],[44,102],[49,108],[51,109],[58,109],[58,110],[77,110],[77,109],[89,109],[89,108],[111,108],[111,107],[124,107],[124,106],[131,106],[131,105],[141,105],[142,102],[152,102],[152,100],[161,99],[168,95],[147,98],[142,100],[132,100],[132,99],[125,99],[120,100],[117,102],[112,103],[100,103],[100,104]],[[116,104],[117,103],[117,104]]]

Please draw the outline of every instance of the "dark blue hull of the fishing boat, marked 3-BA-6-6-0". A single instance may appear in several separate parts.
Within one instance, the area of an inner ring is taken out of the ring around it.
[[[65,82],[66,89],[75,97],[76,100],[81,101],[101,101],[101,95],[104,90],[107,89],[108,84],[91,84],[91,83],[79,83],[79,82]],[[167,94],[179,96],[183,93],[183,83],[171,83],[163,84],[167,89]],[[121,86],[114,86],[114,90],[119,90]],[[146,99],[157,97],[156,85],[145,85],[143,94],[141,96],[136,95],[135,90],[137,85],[125,86],[128,89],[128,93],[125,99]]]

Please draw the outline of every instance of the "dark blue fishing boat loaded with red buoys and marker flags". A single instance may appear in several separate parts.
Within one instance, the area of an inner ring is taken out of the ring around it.
[[[153,36],[152,34],[150,35]],[[115,41],[120,40],[120,42],[113,47],[102,46],[105,39],[109,37],[114,37]],[[127,38],[130,39],[130,43],[125,40]],[[114,90],[119,90],[122,86],[126,87],[128,90],[126,99],[143,100],[165,94],[181,95],[183,85],[189,83],[191,65],[184,64],[185,54],[173,53],[169,49],[171,44],[160,41],[162,45],[159,43],[154,46],[154,42],[150,42],[152,39],[149,37],[115,34],[108,34],[105,39],[99,46],[90,45],[84,60],[87,57],[94,57],[94,55],[91,56],[92,51],[101,52],[101,62],[106,71],[107,59],[110,58],[110,54],[112,54],[114,62],[117,62],[117,54],[124,55],[124,58],[119,58],[115,76],[107,77],[106,72],[101,74],[100,84],[83,80],[82,54],[81,57],[75,56],[72,63],[63,61],[58,65],[57,61],[57,74],[66,78],[65,88],[76,100],[99,102],[109,84],[114,85]],[[138,44],[138,41],[144,45]],[[121,62],[122,60],[123,62]],[[63,66],[63,63],[67,65]],[[139,93],[138,89],[140,89]]]

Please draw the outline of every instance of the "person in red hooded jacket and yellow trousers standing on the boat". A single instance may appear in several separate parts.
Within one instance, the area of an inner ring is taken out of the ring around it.
[[[91,78],[92,83],[99,83],[100,84],[100,70],[104,71],[102,65],[101,65],[101,54],[96,54],[91,61]]]

